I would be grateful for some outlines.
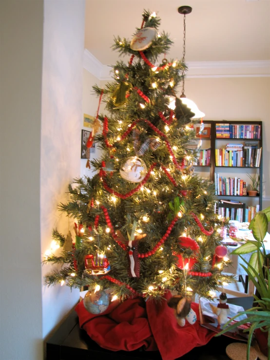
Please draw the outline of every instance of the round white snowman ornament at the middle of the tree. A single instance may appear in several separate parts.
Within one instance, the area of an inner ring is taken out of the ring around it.
[[[145,162],[137,156],[131,156],[120,166],[120,175],[131,183],[139,183],[147,173]]]

